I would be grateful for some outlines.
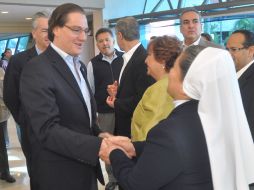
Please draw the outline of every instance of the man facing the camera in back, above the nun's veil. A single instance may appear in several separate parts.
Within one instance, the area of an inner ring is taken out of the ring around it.
[[[201,14],[194,8],[185,9],[180,15],[180,31],[184,37],[183,48],[186,49],[191,45],[201,45],[205,47],[217,47],[221,46],[204,40],[201,37],[202,25]]]

